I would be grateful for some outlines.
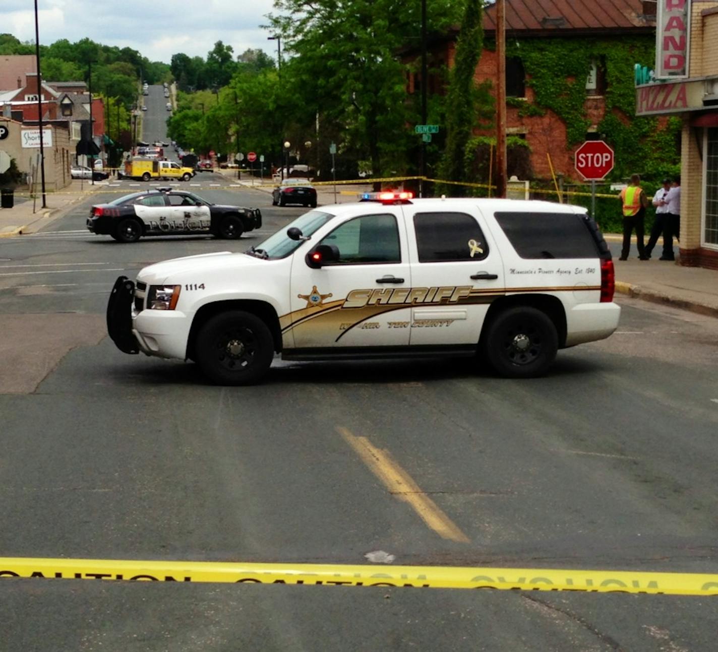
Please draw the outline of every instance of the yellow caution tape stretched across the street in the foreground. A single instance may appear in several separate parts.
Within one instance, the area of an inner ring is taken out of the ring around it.
[[[718,595],[704,573],[0,558],[1,577]]]

